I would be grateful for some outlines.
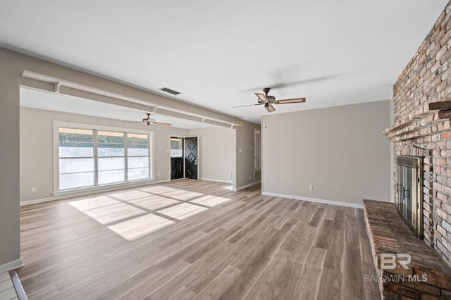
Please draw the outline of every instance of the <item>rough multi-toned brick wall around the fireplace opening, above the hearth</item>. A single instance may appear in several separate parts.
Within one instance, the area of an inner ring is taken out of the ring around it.
[[[395,82],[385,130],[395,156],[424,157],[424,241],[451,265],[451,123],[429,110],[438,101],[451,101],[451,2]]]

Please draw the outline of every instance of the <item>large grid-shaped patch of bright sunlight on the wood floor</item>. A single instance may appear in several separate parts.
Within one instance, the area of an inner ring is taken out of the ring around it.
[[[134,241],[228,201],[228,198],[156,185],[82,197],[68,204],[124,239]]]

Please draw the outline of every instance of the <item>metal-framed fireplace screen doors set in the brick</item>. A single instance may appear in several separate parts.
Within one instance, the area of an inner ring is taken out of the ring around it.
[[[423,158],[398,156],[397,207],[415,236],[423,238]]]

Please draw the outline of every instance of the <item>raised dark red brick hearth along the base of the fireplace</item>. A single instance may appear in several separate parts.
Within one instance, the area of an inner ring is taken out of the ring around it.
[[[395,204],[364,200],[364,211],[381,298],[451,299],[451,268],[416,239]],[[381,270],[381,254],[409,254],[412,261],[407,269],[398,263],[393,270]]]

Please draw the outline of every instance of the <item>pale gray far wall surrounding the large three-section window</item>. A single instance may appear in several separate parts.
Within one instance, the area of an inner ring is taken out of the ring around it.
[[[47,199],[53,196],[54,120],[144,130],[140,123],[20,107],[20,201]],[[171,180],[169,138],[171,135],[187,135],[187,130],[161,126],[152,126],[149,130],[154,132],[154,179]],[[37,187],[37,192],[32,193],[31,187]]]

